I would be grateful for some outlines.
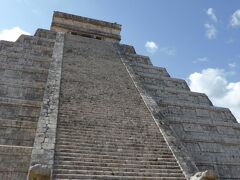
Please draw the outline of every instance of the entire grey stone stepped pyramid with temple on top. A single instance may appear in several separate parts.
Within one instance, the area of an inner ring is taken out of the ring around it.
[[[121,25],[54,12],[0,41],[1,180],[239,180],[240,125],[121,44]]]

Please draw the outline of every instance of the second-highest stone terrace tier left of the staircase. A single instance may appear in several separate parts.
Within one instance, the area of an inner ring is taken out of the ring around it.
[[[21,35],[16,42],[53,48],[55,40],[38,36]]]

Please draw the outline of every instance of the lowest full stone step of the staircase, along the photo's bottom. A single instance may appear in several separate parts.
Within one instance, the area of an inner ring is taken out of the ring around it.
[[[97,170],[68,170],[68,169],[55,169],[56,174],[92,174],[92,175],[113,175],[113,176],[142,176],[142,177],[183,177],[182,172],[126,172],[126,171],[97,171]]]

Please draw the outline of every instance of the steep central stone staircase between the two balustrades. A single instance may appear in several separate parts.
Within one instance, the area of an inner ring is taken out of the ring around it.
[[[54,179],[185,179],[112,43],[67,35]]]

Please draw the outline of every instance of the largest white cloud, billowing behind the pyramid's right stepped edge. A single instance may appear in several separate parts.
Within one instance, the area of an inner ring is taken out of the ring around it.
[[[228,82],[223,69],[203,69],[189,75],[192,91],[206,93],[216,106],[230,108],[240,121],[240,82]]]

